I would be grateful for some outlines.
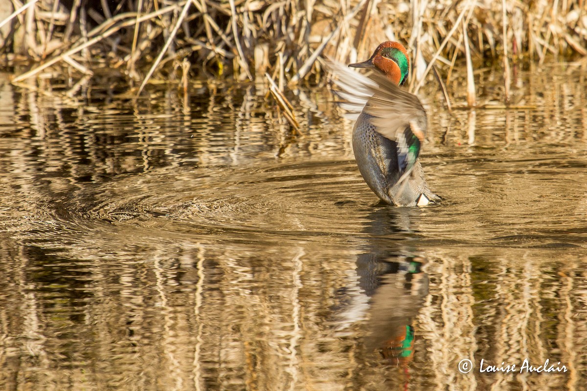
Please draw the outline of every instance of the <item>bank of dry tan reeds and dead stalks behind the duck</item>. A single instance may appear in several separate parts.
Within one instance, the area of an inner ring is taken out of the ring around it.
[[[188,73],[292,86],[319,77],[322,55],[365,59],[387,39],[409,47],[416,91],[435,64],[448,81],[467,59],[474,83],[473,63],[501,61],[507,86],[510,62],[587,55],[585,0],[12,0],[4,12],[5,64],[27,69],[15,83],[67,69],[121,76],[134,93],[185,87]]]

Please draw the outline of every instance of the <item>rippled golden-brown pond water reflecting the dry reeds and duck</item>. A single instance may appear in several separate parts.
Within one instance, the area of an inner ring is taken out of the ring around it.
[[[254,85],[0,77],[0,389],[585,389],[586,76],[423,91],[421,209],[377,204],[322,88],[293,137]]]

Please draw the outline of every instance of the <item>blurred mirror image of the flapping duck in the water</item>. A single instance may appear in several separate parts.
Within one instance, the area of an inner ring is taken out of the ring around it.
[[[411,246],[416,242],[410,222],[420,213],[391,206],[371,213],[363,230],[367,242],[357,257],[358,288],[339,290],[346,305],[337,311],[339,331],[363,321],[365,349],[406,372],[414,355],[414,319],[429,288],[428,275],[422,271],[426,261]]]

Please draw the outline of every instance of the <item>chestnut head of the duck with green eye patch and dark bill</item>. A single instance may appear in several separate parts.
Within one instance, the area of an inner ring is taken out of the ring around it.
[[[369,60],[349,66],[379,69],[393,83],[402,86],[410,70],[410,60],[406,48],[401,43],[388,40],[377,46]]]

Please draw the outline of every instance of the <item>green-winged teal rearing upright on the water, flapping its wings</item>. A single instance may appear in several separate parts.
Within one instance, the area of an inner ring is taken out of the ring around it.
[[[426,111],[417,96],[399,86],[410,60],[398,42],[383,42],[362,63],[349,67],[375,70],[369,77],[328,61],[333,83],[342,91],[340,106],[356,117],[353,150],[367,185],[384,202],[424,206],[440,198],[428,188],[418,155],[427,131]]]

